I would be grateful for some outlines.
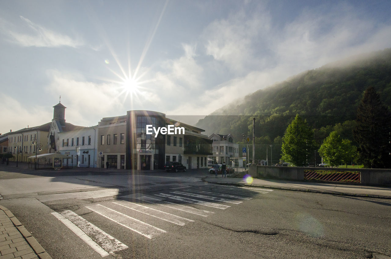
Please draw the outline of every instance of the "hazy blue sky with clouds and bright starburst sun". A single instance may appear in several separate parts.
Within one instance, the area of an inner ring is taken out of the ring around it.
[[[391,47],[391,2],[0,0],[0,133],[66,106],[79,126],[128,110],[194,125],[290,76]]]

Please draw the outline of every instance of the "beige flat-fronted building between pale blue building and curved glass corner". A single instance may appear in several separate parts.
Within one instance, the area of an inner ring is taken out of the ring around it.
[[[107,117],[98,123],[98,151],[101,155],[98,159],[100,167],[125,169],[126,161],[126,120],[127,116]]]

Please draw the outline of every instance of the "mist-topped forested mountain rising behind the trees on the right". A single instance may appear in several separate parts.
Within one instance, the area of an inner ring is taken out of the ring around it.
[[[196,126],[205,129],[206,134],[232,133],[240,141],[242,133],[252,136],[253,118],[256,118],[255,135],[265,150],[268,143],[278,145],[279,137],[298,113],[315,129],[319,145],[336,128],[344,138],[353,140],[357,106],[369,86],[375,87],[382,102],[390,108],[391,49],[308,70],[247,95],[241,104],[228,104],[201,119]],[[277,159],[280,153],[275,155]],[[260,156],[257,158],[263,159],[265,154]]]

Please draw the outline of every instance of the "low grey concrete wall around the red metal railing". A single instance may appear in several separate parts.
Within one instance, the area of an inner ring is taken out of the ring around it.
[[[361,185],[391,186],[391,169],[346,169],[330,167],[293,167],[250,165],[249,174],[256,178],[305,181],[304,170],[356,171],[361,174]]]

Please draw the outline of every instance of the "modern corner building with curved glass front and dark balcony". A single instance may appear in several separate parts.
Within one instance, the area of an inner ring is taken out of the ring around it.
[[[158,128],[183,128],[174,134],[152,132],[147,125]],[[133,110],[126,118],[126,169],[163,169],[166,161],[178,161],[188,169],[207,168],[212,141],[204,130],[165,117],[164,113]]]

